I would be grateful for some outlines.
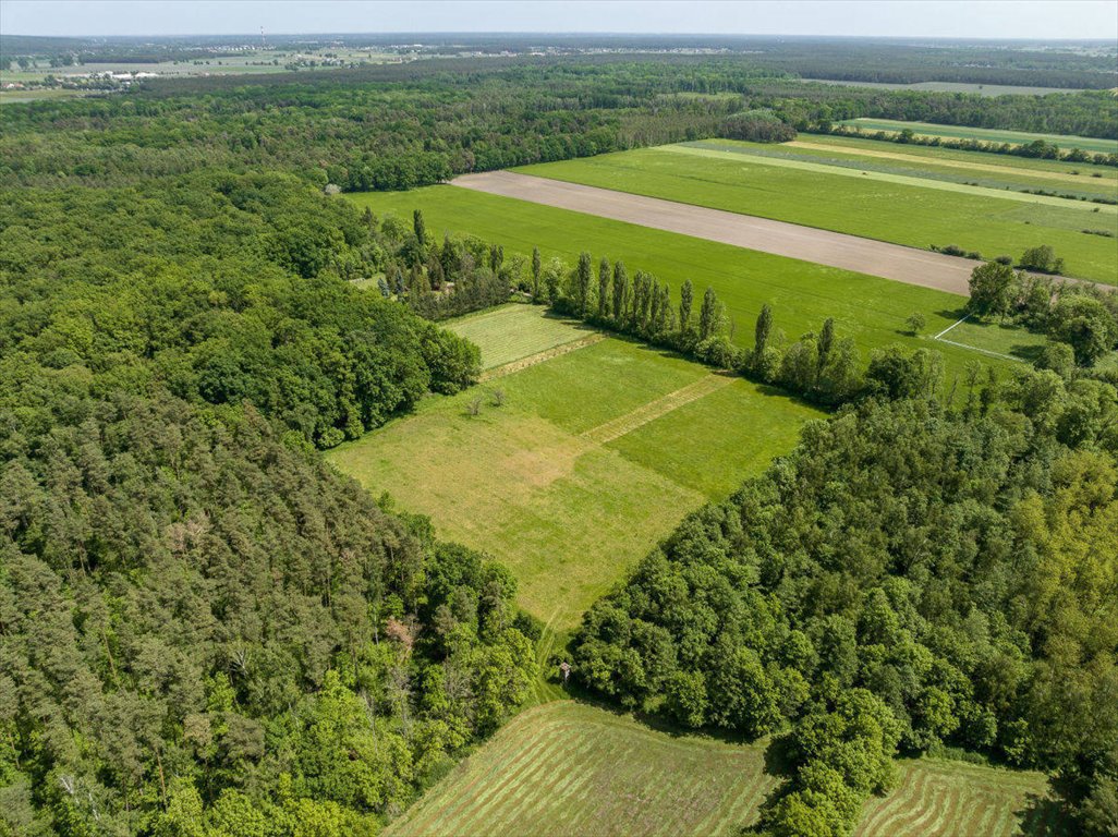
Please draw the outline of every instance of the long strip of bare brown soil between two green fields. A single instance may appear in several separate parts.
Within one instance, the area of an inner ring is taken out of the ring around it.
[[[463,189],[681,232],[684,236],[841,267],[909,285],[948,291],[960,296],[968,295],[967,280],[977,264],[966,258],[802,227],[798,223],[510,171],[463,174],[451,182]],[[903,208],[898,208],[898,211],[902,212]]]

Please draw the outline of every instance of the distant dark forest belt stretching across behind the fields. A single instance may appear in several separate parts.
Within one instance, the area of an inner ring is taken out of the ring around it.
[[[1118,101],[1108,93],[982,98],[780,82],[726,58],[593,58],[192,78],[28,103],[4,111],[0,187],[281,169],[318,187],[408,189],[718,135],[729,116],[766,108],[797,130],[875,116],[1118,136]]]

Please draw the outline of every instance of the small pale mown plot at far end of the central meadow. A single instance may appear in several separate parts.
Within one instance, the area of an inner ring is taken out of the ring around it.
[[[503,367],[549,349],[572,343],[591,330],[571,320],[541,316],[541,308],[503,305],[445,323],[482,349],[482,369]]]

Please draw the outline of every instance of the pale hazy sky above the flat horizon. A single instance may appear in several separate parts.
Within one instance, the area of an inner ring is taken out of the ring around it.
[[[717,32],[1118,39],[1116,0],[0,0],[9,35]]]

